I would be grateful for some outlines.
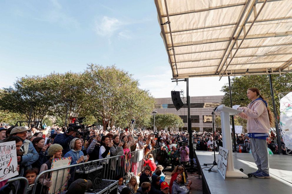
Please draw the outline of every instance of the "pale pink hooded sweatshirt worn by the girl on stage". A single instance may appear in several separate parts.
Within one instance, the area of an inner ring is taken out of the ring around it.
[[[262,100],[250,102],[247,107],[239,107],[238,110],[243,110],[239,116],[247,119],[246,129],[248,133],[269,133],[268,110]]]

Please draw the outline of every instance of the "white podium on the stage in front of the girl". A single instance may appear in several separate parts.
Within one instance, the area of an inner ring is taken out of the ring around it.
[[[234,168],[233,164],[233,154],[232,154],[232,141],[231,141],[231,133],[230,133],[230,115],[236,115],[241,110],[225,107],[225,105],[219,105],[217,107],[216,112],[220,112],[221,117],[221,128],[222,128],[222,141],[223,147],[229,150],[228,153],[228,162],[227,162],[227,170],[226,170],[226,177],[230,178],[248,178],[240,170]],[[234,145],[236,147],[236,145]]]

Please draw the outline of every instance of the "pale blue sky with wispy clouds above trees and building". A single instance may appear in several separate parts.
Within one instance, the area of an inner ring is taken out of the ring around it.
[[[0,1],[0,88],[17,77],[115,64],[154,97],[175,87],[153,0]],[[190,95],[221,95],[223,77],[190,79]],[[185,82],[179,82],[185,89]]]

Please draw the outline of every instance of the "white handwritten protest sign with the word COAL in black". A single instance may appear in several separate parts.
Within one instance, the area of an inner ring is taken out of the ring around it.
[[[0,182],[17,176],[16,142],[0,143]]]

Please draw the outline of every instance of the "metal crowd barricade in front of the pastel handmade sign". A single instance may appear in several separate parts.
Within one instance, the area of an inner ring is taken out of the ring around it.
[[[55,178],[55,181],[53,181],[54,184],[52,183],[53,185],[50,187],[51,190],[49,193],[61,193],[61,188],[63,188],[64,185],[66,185],[65,187],[67,190],[69,185],[78,178],[91,180],[92,188],[98,189],[98,185],[102,182],[102,179],[115,180],[117,175],[125,175],[125,168],[120,165],[121,163],[125,164],[125,155],[112,156],[85,163],[45,170],[36,176],[31,194],[35,194],[37,189],[38,192],[48,190],[48,187],[44,186],[44,182],[45,180],[49,180],[50,175],[55,171],[58,171],[57,177]],[[69,176],[64,180],[64,175],[68,173],[68,169],[70,169]],[[58,176],[61,176],[61,184],[57,183]],[[57,184],[61,185],[61,187],[58,186],[59,188],[57,188]]]

